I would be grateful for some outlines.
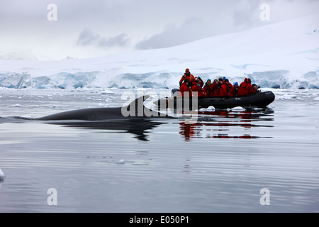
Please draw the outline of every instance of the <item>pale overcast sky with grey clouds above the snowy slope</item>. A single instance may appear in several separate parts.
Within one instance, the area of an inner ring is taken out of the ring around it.
[[[260,19],[262,4],[269,5],[270,21]],[[62,60],[166,48],[318,9],[318,0],[1,0],[0,58]]]

